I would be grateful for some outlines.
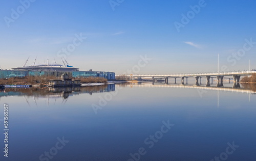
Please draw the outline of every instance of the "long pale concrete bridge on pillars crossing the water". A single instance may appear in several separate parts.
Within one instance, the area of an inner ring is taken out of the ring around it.
[[[206,78],[207,82],[210,82],[210,78],[211,78],[211,82],[212,79],[214,77],[217,78],[218,82],[223,82],[224,78],[229,79],[233,79],[234,82],[239,82],[241,76],[248,76],[248,75],[252,75],[256,73],[255,70],[248,70],[248,71],[234,71],[234,72],[211,72],[211,73],[191,73],[191,74],[142,74],[142,75],[126,75],[126,77],[130,77],[130,79],[134,79],[134,78],[151,78],[151,79],[162,79],[164,78],[165,80],[165,84],[168,84],[168,79],[169,78],[174,78],[175,79],[175,83],[176,83],[176,79],[177,78],[181,78],[181,84],[184,84],[184,78],[186,78],[186,82],[187,82],[187,78],[189,77],[194,77],[196,79],[196,82],[202,81],[202,77]],[[224,77],[225,76],[225,77]],[[227,76],[231,76],[227,77]]]

